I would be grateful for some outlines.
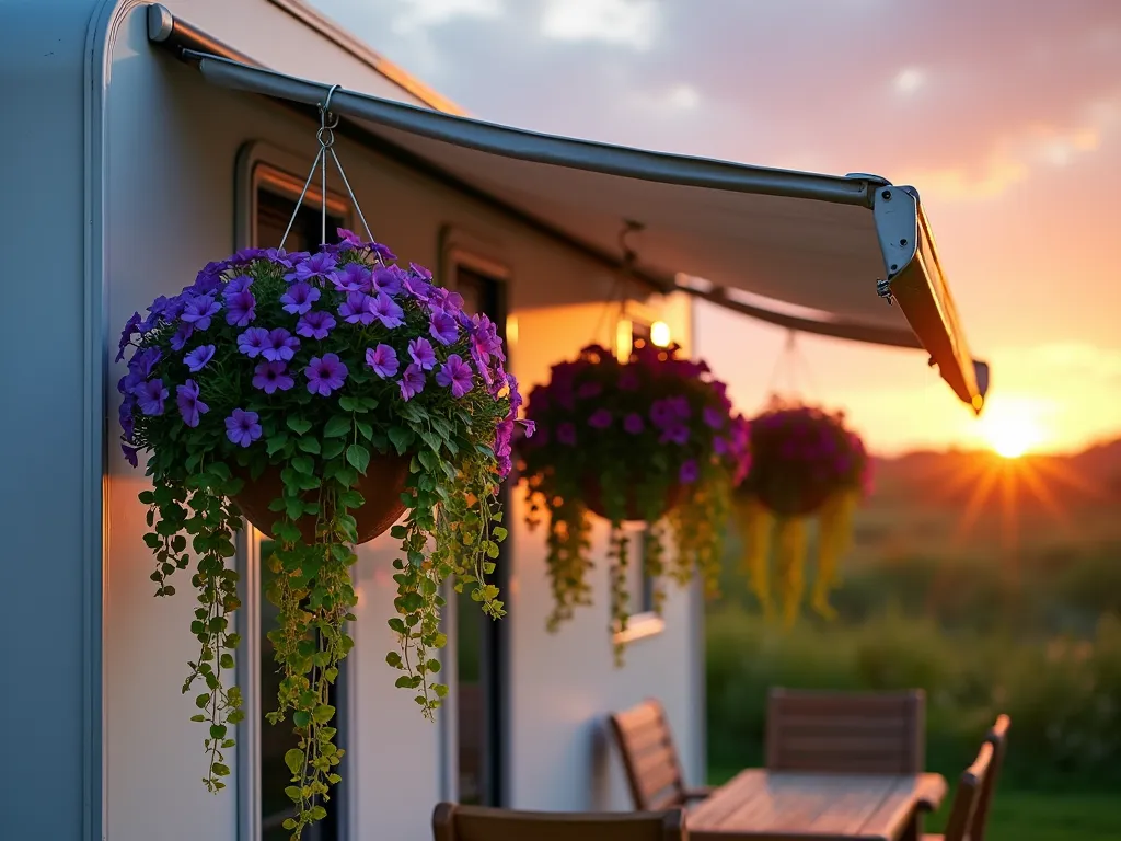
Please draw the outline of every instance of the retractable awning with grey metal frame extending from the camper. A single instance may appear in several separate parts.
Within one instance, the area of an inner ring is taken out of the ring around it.
[[[256,66],[166,9],[159,20],[151,39],[210,83],[307,107],[333,87]],[[340,87],[330,107],[379,151],[612,265],[623,222],[641,223],[632,274],[657,289],[791,330],[925,349],[981,409],[988,367],[970,355],[911,187],[541,135]]]

